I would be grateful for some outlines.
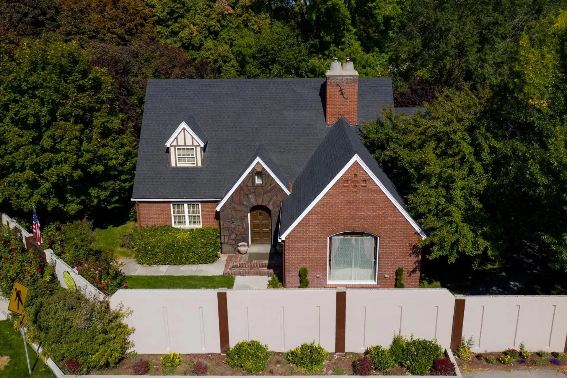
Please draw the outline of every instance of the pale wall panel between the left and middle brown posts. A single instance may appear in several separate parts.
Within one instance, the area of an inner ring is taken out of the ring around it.
[[[336,291],[333,289],[236,289],[227,291],[229,342],[260,340],[287,351],[315,340],[335,350]]]

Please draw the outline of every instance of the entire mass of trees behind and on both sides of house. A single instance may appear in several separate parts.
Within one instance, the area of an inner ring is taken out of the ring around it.
[[[364,136],[428,235],[422,255],[459,276],[532,261],[553,276],[535,291],[565,293],[566,5],[5,0],[0,206],[122,223],[147,79],[323,77],[348,56],[392,78],[396,107],[426,107],[385,110]]]

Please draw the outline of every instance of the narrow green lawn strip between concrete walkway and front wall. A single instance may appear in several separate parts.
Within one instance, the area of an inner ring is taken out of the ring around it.
[[[231,289],[234,276],[128,276],[130,289]]]

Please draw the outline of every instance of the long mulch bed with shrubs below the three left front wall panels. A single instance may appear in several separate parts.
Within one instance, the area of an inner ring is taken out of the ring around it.
[[[138,359],[149,360],[150,370],[147,375],[194,375],[193,364],[197,361],[204,361],[207,364],[206,375],[248,375],[243,369],[231,368],[224,361],[225,357],[220,354],[182,354],[181,365],[176,368],[163,368],[159,354],[140,354],[129,357],[116,366],[107,369],[91,371],[90,375],[132,375],[133,363]],[[320,371],[312,375],[352,375],[352,363],[362,356],[362,354],[329,354],[329,359]],[[408,371],[402,367],[391,368],[389,375],[408,375]],[[373,372],[380,375],[379,372]],[[260,375],[310,375],[296,366],[289,364],[282,353],[274,353],[266,364],[266,369]]]

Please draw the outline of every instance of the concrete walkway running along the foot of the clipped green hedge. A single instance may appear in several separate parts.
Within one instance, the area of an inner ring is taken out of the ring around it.
[[[135,259],[120,259],[122,272],[127,276],[222,276],[226,258],[212,264],[140,265]]]

